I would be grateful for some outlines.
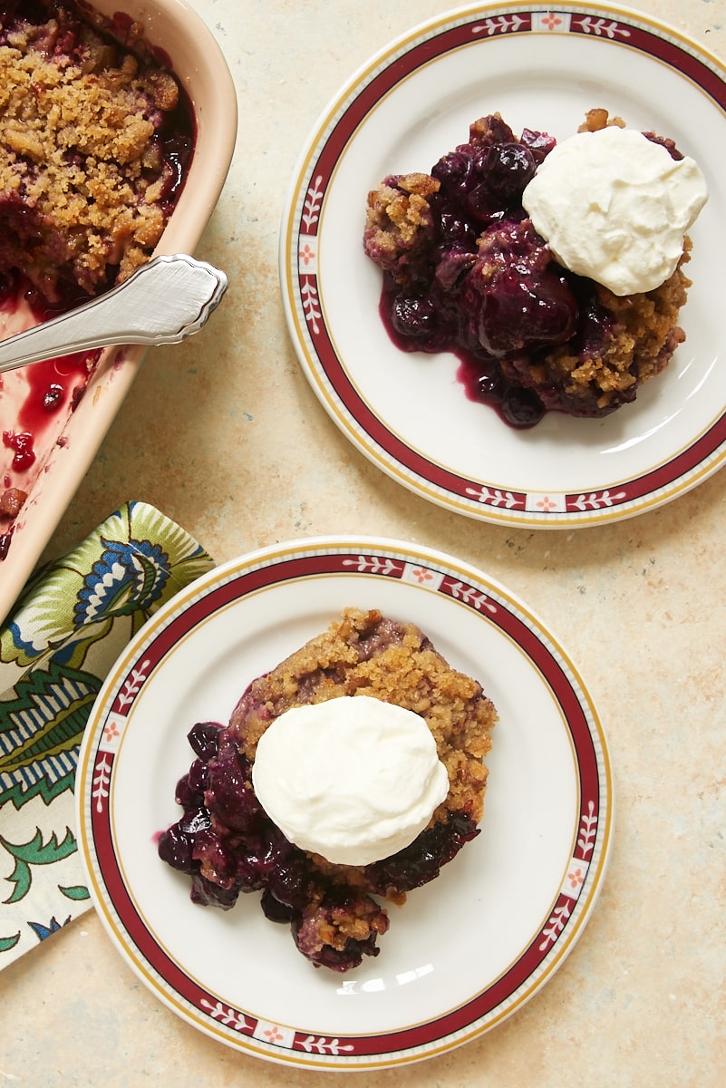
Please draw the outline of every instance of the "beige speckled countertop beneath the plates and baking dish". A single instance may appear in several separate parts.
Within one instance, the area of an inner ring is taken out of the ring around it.
[[[561,632],[608,732],[609,873],[572,955],[503,1025],[359,1084],[716,1088],[726,1078],[726,474],[633,520],[556,533],[448,512],[364,459],[322,410],[288,338],[280,211],[300,146],[340,84],[440,0],[193,0],[235,76],[239,140],[198,256],[224,268],[210,325],[147,360],[49,554],[128,498],[217,561],[287,539],[376,533],[459,555]],[[726,0],[648,0],[726,60]],[[721,243],[719,243],[721,244]],[[75,1088],[339,1085],[176,1018],[93,912],[0,975],[0,1084]]]

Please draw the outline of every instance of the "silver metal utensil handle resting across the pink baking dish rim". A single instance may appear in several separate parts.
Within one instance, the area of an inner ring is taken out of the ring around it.
[[[178,344],[199,332],[227,289],[224,272],[186,254],[154,257],[75,310],[0,342],[0,373],[118,344]]]

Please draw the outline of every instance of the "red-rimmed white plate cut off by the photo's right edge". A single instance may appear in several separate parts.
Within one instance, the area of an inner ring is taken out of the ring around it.
[[[709,203],[692,230],[687,334],[667,371],[602,420],[549,413],[517,431],[467,399],[453,355],[399,351],[378,316],[380,273],[362,248],[366,195],[429,171],[499,111],[572,135],[605,107],[676,140]],[[474,518],[577,528],[689,491],[726,458],[721,254],[726,219],[726,67],[680,32],[627,8],[473,4],[371,59],[328,103],[300,154],[283,215],[280,282],[302,368],[346,436],[414,493]]]

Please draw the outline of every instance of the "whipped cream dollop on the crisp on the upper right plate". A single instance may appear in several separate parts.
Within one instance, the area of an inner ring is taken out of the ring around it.
[[[558,144],[522,202],[560,264],[633,295],[673,274],[706,199],[693,159],[676,161],[642,133],[609,125]]]

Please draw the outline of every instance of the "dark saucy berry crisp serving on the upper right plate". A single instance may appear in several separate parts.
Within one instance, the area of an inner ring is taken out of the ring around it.
[[[594,109],[579,132],[596,136],[600,147],[603,132],[610,137],[613,127],[625,125]],[[674,143],[653,133],[639,133],[638,140],[651,156],[658,146],[663,175],[674,163],[698,175],[689,208],[698,214],[705,191],[692,160],[681,163]],[[468,396],[492,405],[517,428],[534,425],[547,411],[606,416],[633,401],[685,338],[678,314],[690,286],[684,267],[691,243],[684,231],[677,260],[661,282],[615,292],[597,274],[565,267],[555,245],[535,228],[527,194],[550,166],[555,147],[542,132],[525,128],[515,136],[491,114],[471,125],[468,141],[445,154],[430,174],[390,175],[367,199],[364,250],[384,273],[379,309],[391,339],[406,351],[453,351]],[[616,195],[631,184],[636,169],[634,159],[625,156],[624,162],[627,184],[616,177]],[[649,171],[650,165],[646,175]],[[571,166],[568,174],[573,184],[583,184],[579,169]],[[600,210],[602,177],[596,170],[584,178],[593,189],[589,214]],[[638,217],[658,240],[659,225],[644,222],[654,201],[637,184],[640,177],[633,183],[631,240],[641,233]],[[578,231],[577,215],[573,205],[564,212],[558,208],[552,218],[579,233],[587,247],[603,232],[599,223]],[[612,230],[603,245],[617,249],[628,225],[615,223]]]

